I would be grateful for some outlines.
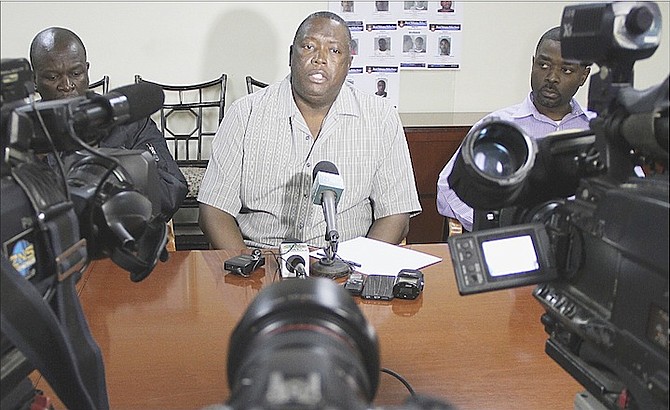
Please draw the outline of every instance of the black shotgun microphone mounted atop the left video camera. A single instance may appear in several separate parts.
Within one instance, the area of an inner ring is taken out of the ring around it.
[[[12,112],[9,144],[24,149],[30,147],[38,154],[51,152],[45,130],[33,125],[43,120],[56,150],[72,151],[80,148],[71,137],[72,129],[90,145],[97,142],[101,131],[146,118],[160,109],[164,101],[161,87],[149,83],[119,87],[105,95],[89,93],[86,97],[38,101]]]

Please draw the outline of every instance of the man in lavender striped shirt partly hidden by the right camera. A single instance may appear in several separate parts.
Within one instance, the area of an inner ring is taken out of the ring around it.
[[[544,33],[537,44],[531,67],[531,92],[517,105],[503,108],[482,118],[497,118],[517,124],[531,138],[542,138],[550,132],[587,129],[594,113],[585,111],[574,95],[590,73],[589,64],[564,60],[561,56],[560,28]],[[449,186],[448,178],[458,151],[440,172],[437,181],[437,209],[448,218],[457,219],[463,229],[472,231],[473,210],[463,203]]]

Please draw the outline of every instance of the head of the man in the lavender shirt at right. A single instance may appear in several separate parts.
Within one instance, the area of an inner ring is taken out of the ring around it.
[[[550,29],[540,37],[533,56],[530,74],[533,104],[549,118],[562,119],[572,110],[570,100],[589,73],[588,64],[563,59],[560,28]]]

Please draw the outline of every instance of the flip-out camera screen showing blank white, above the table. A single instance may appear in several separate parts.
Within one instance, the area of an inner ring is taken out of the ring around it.
[[[557,277],[549,237],[540,223],[464,233],[448,242],[461,295]]]

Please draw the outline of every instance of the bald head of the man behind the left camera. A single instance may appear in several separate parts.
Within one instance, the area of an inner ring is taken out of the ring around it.
[[[45,100],[84,95],[88,91],[86,48],[72,31],[50,27],[30,44],[35,86]]]

